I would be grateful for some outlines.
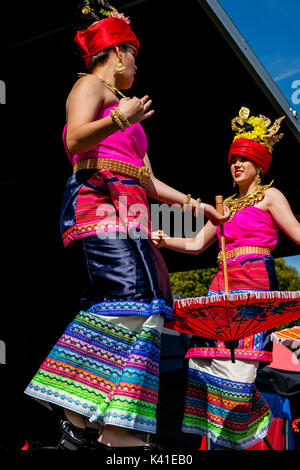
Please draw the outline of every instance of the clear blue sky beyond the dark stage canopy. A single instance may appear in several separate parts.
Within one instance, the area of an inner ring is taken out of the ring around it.
[[[219,0],[300,116],[300,0]],[[285,258],[300,274],[300,256]]]

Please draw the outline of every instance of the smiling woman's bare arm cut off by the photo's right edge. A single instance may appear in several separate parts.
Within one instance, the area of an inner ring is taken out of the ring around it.
[[[300,223],[294,216],[286,197],[276,188],[266,191],[266,208],[277,225],[293,242],[300,245]]]

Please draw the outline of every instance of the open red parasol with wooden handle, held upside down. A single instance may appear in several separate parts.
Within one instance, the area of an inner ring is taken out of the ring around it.
[[[222,204],[221,199],[222,196],[217,196],[217,207]],[[224,254],[222,230],[221,241]],[[225,341],[234,362],[238,340],[300,317],[300,291],[229,294],[225,257],[223,261],[226,294],[176,300],[173,319],[165,326],[183,333]]]

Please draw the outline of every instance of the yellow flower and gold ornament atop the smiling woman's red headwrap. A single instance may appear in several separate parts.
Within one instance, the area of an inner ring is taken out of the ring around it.
[[[242,107],[239,111],[239,115],[231,121],[231,128],[236,132],[233,142],[240,138],[255,140],[265,145],[270,152],[272,152],[274,144],[279,142],[284,135],[275,135],[279,131],[284,118],[285,116],[276,119],[274,124],[270,127],[271,120],[269,118],[266,118],[262,114],[258,117],[250,116],[250,109]]]

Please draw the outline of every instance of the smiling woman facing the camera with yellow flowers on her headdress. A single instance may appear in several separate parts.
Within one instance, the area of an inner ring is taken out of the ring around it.
[[[285,196],[261,184],[272,159],[272,147],[282,118],[270,126],[264,116],[249,116],[240,110],[232,121],[236,131],[228,155],[238,194],[224,204],[231,210],[224,223],[229,293],[278,290],[274,260],[271,255],[280,227],[300,244],[300,224]],[[168,238],[159,231],[155,243],[182,253],[198,254],[219,240],[220,229],[208,222],[193,239]],[[221,253],[220,253],[221,254]],[[207,295],[225,293],[223,256],[218,256],[220,271]],[[182,430],[206,436],[212,448],[246,449],[264,439],[272,419],[271,412],[254,382],[259,364],[272,361],[270,331],[238,342],[236,363],[223,341],[193,337],[186,355],[189,358],[188,385]]]

